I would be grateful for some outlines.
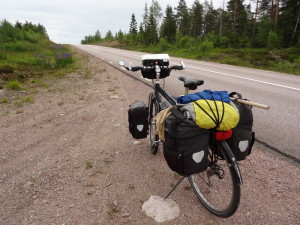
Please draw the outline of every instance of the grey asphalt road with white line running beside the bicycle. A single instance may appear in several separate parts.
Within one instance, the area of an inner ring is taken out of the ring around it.
[[[133,66],[141,65],[141,56],[149,54],[92,45],[75,47],[117,67],[119,60],[125,60],[127,65],[129,62]],[[199,91],[236,91],[243,98],[270,105],[270,110],[253,108],[254,131],[258,142],[262,148],[287,154],[299,163],[300,76],[176,57],[171,57],[170,63],[180,64],[180,60],[184,61],[186,69],[172,71],[165,79],[166,89],[171,94],[183,94],[184,89],[178,77],[186,76],[204,80]],[[131,73],[143,79],[140,72]]]

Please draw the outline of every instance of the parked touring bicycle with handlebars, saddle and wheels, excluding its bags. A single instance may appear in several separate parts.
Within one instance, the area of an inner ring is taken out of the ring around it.
[[[161,110],[170,105],[180,107],[176,99],[161,86],[160,79],[169,76],[172,70],[185,69],[185,65],[181,61],[180,66],[169,66],[167,63],[168,59],[167,54],[148,55],[142,58],[143,66],[135,67],[132,67],[131,64],[129,67],[126,67],[124,61],[119,62],[120,66],[125,67],[127,70],[133,72],[140,70],[143,76],[147,75],[148,79],[152,79],[154,91],[149,94],[148,99],[148,134],[153,155],[157,154],[161,143],[161,140],[155,133],[156,123],[154,118]],[[147,60],[148,62],[145,63]],[[185,94],[188,94],[190,90],[196,90],[198,86],[204,84],[204,81],[199,79],[188,79],[186,77],[179,77],[178,79],[183,82]],[[163,101],[163,98],[166,101]],[[243,181],[238,163],[230,147],[225,140],[217,140],[214,134],[215,131],[211,131],[207,169],[198,174],[188,176],[188,180],[202,205],[212,214],[226,218],[233,215],[239,206],[240,186]],[[184,178],[185,176],[177,182],[165,199],[168,198]]]

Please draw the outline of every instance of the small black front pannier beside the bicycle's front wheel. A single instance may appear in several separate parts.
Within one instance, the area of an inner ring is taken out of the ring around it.
[[[135,139],[147,137],[148,108],[144,102],[136,101],[128,110],[129,131]]]

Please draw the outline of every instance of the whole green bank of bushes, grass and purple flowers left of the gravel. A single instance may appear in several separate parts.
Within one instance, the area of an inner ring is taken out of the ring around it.
[[[41,24],[0,22],[0,105],[34,101],[36,88],[74,71],[70,49],[49,40]],[[21,111],[20,111],[21,112]]]

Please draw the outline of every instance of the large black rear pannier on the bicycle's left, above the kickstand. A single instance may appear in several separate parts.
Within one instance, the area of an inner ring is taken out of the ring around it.
[[[182,112],[171,110],[165,120],[164,157],[171,170],[189,176],[207,169],[209,130],[197,126]]]

